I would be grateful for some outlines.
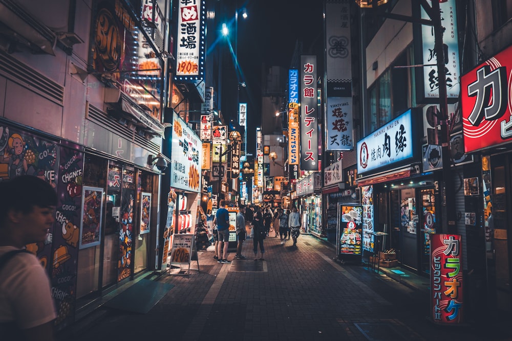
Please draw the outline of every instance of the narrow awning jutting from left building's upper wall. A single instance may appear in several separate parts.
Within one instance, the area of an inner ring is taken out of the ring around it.
[[[143,129],[149,130],[151,133],[164,136],[163,125],[148,115],[140,105],[138,105],[130,96],[124,94],[118,88],[105,88],[105,103],[116,103],[126,115],[130,116],[131,121],[141,126]]]

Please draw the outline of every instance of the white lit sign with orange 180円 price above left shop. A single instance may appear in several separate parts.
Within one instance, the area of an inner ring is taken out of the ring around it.
[[[202,142],[174,112],[171,145],[170,186],[185,191],[201,191]]]

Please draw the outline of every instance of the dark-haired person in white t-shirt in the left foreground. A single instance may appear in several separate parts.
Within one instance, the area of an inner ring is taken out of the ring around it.
[[[38,177],[22,175],[0,182],[0,338],[3,341],[54,339],[56,313],[45,269],[33,254],[10,252],[47,239],[56,204],[55,190]]]

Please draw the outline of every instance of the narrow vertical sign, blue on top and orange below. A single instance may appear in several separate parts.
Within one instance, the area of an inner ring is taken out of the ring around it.
[[[298,70],[288,71],[288,164],[298,165],[300,125],[298,113]]]

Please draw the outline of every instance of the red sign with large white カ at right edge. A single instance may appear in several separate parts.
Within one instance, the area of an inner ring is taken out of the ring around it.
[[[461,77],[464,151],[512,141],[512,47]]]

